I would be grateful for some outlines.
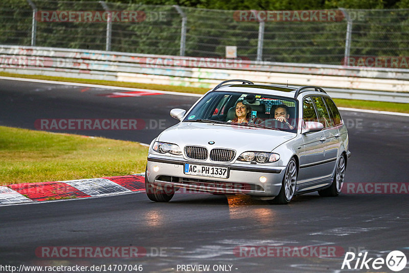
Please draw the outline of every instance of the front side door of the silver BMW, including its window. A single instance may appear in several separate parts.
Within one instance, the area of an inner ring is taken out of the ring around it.
[[[303,100],[303,124],[307,121],[319,122],[318,115],[311,97]],[[316,180],[323,174],[322,162],[324,161],[324,131],[302,134],[304,147],[299,153],[300,169],[298,174],[299,185]]]

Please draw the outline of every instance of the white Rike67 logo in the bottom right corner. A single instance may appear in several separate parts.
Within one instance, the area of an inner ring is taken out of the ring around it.
[[[355,255],[353,252],[347,252],[345,254],[344,262],[341,269],[384,269],[383,266],[387,265],[392,271],[401,271],[406,266],[406,256],[400,251],[392,251],[388,254],[386,259],[383,258],[367,258],[368,252],[358,253]],[[355,260],[356,258],[356,260]]]

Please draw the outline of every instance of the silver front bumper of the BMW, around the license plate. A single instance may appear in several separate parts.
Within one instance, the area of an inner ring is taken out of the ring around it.
[[[146,177],[149,183],[157,188],[174,187],[209,193],[277,196],[286,168],[215,163],[212,166],[228,167],[230,171],[229,178],[215,178],[185,174],[184,163],[209,165],[169,157],[148,156]],[[154,166],[158,167],[156,172],[153,170]],[[265,183],[260,182],[260,176],[267,178]]]

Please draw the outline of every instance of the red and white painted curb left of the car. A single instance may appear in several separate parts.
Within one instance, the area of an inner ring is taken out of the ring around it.
[[[145,191],[143,174],[0,186],[0,205]]]

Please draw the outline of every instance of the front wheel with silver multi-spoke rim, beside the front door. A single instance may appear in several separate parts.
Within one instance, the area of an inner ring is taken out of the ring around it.
[[[285,169],[281,190],[274,199],[268,200],[270,204],[288,204],[291,201],[297,187],[297,172],[296,160],[291,158]]]

